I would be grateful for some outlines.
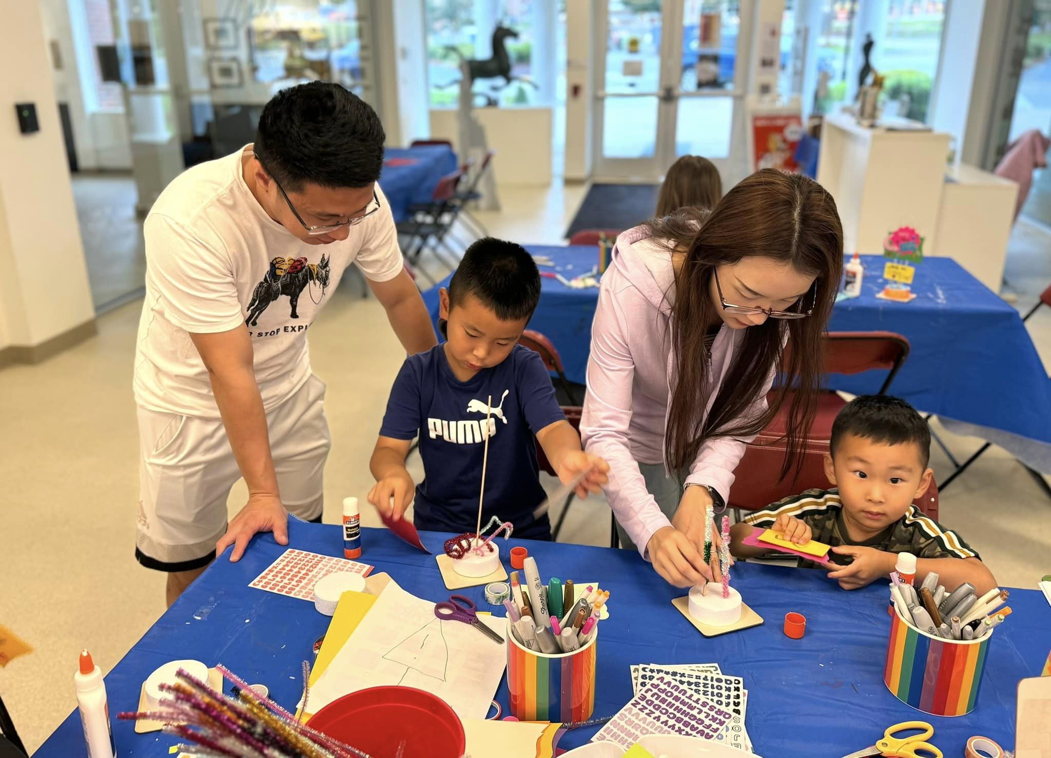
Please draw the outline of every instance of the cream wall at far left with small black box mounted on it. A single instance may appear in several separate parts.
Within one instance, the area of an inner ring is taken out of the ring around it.
[[[95,318],[40,8],[7,3],[0,70],[0,346],[37,345]],[[13,103],[37,106],[21,134]]]

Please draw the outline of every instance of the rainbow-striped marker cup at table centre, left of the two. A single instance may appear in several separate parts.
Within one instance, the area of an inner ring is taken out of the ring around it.
[[[595,711],[595,655],[598,631],[572,653],[529,650],[508,624],[508,692],[511,715],[519,721],[586,721]]]

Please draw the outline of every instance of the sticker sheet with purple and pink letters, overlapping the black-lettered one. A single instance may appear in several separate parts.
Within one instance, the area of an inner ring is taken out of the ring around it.
[[[682,685],[658,676],[591,741],[615,742],[626,749],[646,734],[681,734],[715,739],[733,717],[729,711],[704,702]]]

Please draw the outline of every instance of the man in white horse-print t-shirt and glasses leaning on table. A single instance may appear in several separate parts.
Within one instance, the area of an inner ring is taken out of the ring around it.
[[[409,354],[436,343],[376,184],[384,141],[339,85],[292,87],[254,144],[185,171],[146,217],[136,556],[168,572],[169,605],[229,545],[236,561],[259,531],[287,544],[289,511],[321,520],[330,439],[306,333],[348,266]]]

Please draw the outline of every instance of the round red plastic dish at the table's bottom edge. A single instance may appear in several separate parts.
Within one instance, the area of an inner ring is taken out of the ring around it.
[[[412,687],[371,687],[323,708],[308,724],[369,755],[460,758],[463,724],[445,700]]]

